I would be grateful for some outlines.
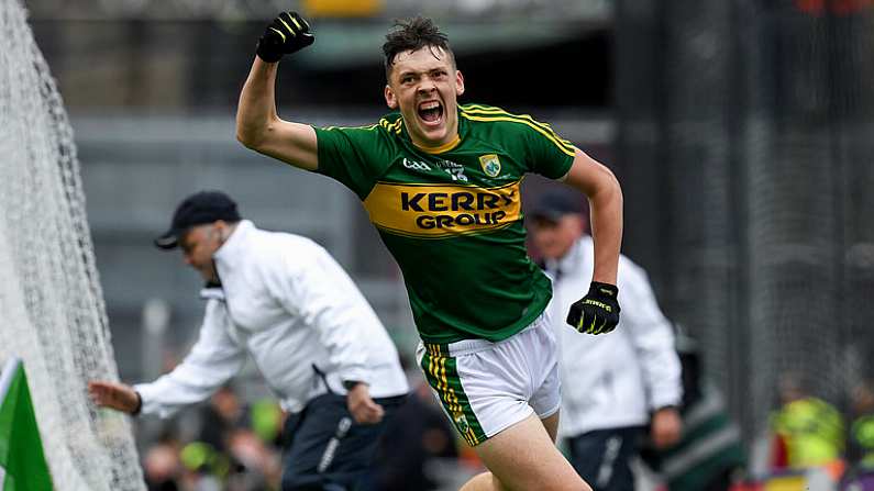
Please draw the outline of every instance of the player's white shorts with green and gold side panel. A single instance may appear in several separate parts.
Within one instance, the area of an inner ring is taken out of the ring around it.
[[[419,367],[471,446],[532,413],[544,419],[558,411],[557,347],[546,312],[549,309],[524,330],[497,343],[419,344]]]

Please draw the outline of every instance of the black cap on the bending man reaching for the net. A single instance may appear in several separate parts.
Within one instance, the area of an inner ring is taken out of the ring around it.
[[[179,245],[179,237],[195,225],[203,225],[218,220],[239,222],[236,203],[221,191],[200,191],[189,196],[173,213],[170,228],[155,239],[155,246],[172,249]]]

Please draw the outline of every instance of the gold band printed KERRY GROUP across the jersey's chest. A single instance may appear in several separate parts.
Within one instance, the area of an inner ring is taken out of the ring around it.
[[[521,180],[498,188],[377,182],[370,222],[395,235],[445,238],[504,228],[521,215]]]

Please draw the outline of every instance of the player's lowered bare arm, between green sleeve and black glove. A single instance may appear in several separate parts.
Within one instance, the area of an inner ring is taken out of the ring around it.
[[[593,281],[616,284],[622,245],[622,189],[619,181],[610,169],[579,149],[571,170],[561,180],[589,199],[595,241]]]

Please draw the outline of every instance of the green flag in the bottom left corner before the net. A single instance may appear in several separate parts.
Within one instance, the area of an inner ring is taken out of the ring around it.
[[[27,377],[19,359],[9,360],[0,375],[0,490],[52,490]]]

